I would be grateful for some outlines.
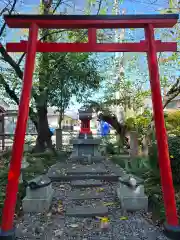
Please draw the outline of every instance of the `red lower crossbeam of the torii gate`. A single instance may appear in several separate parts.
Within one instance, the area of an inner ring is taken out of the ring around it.
[[[156,41],[157,52],[175,52],[177,43]],[[27,41],[7,43],[8,52],[26,52]],[[147,52],[146,41],[139,43],[37,43],[37,52]]]

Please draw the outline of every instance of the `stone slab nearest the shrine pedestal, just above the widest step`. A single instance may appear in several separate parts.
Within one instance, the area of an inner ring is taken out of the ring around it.
[[[67,169],[68,175],[80,174],[107,174],[107,170],[103,164],[91,164],[89,166],[75,165]]]

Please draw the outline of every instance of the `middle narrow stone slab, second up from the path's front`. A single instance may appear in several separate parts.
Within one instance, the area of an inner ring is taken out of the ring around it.
[[[71,200],[86,200],[86,199],[102,199],[104,194],[95,190],[81,191],[74,190],[70,192],[67,197]]]

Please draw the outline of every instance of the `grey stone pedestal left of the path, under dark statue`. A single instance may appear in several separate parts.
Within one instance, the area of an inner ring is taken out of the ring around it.
[[[54,195],[54,190],[51,189],[51,192],[49,192],[49,195],[46,198],[41,199],[30,199],[27,196],[22,201],[23,211],[24,212],[36,212],[36,213],[42,213],[49,210],[49,207],[51,205],[51,201]]]

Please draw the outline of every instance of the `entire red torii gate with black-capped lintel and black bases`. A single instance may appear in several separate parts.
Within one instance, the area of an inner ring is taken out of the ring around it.
[[[16,206],[21,159],[23,154],[26,123],[36,52],[146,52],[148,57],[150,85],[162,192],[166,210],[166,230],[179,232],[172,172],[169,160],[167,135],[164,123],[157,52],[177,50],[174,42],[163,43],[154,39],[154,28],[171,28],[178,20],[178,14],[166,15],[123,15],[123,16],[85,16],[85,15],[5,15],[10,28],[29,28],[28,41],[7,43],[8,52],[26,52],[23,88],[19,104],[19,114],[14,136],[14,144],[6,199],[4,202],[0,239],[14,239],[13,218]],[[87,43],[42,43],[38,41],[38,29],[88,29]],[[144,28],[145,41],[139,43],[97,43],[96,30],[104,28]]]

